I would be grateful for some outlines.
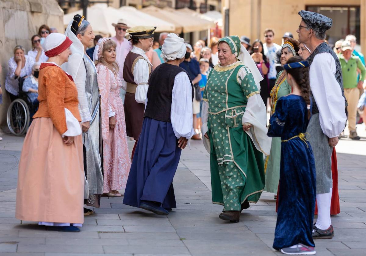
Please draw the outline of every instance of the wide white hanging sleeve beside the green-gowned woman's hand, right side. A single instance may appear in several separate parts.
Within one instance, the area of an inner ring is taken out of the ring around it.
[[[247,106],[243,114],[243,125],[253,125],[246,131],[257,150],[265,155],[269,155],[272,138],[267,136],[267,111],[264,102],[259,93],[248,98]]]

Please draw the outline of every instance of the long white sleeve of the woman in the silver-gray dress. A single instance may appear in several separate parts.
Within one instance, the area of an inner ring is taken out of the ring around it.
[[[82,123],[91,120],[89,104],[85,93],[85,80],[86,80],[86,69],[85,65],[81,63],[81,65],[79,66],[79,70],[76,73],[74,82],[76,85],[76,89],[78,89],[78,100],[79,100],[78,107]]]

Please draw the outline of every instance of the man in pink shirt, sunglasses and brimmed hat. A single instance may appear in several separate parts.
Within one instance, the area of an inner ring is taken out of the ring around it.
[[[124,22],[123,19],[118,20],[117,24],[112,23],[112,26],[115,27],[116,30],[116,36],[115,37],[111,37],[109,39],[112,39],[113,41],[116,42],[117,44],[117,48],[116,48],[116,61],[119,65],[119,78],[123,80],[123,64],[124,64],[124,60],[126,59],[127,53],[130,52],[132,45],[130,44],[130,42],[124,38],[124,36],[126,35],[126,30],[129,29],[130,27],[128,27],[126,25],[126,23]],[[125,83],[125,82],[124,82]],[[126,91],[123,89],[120,89],[120,96],[122,98],[122,100],[124,101],[124,95],[126,94]]]

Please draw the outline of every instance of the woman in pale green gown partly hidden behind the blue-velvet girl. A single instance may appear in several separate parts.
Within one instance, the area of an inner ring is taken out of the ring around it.
[[[286,64],[286,61],[291,57],[299,55],[297,52],[299,50],[300,43],[294,39],[287,39],[281,50],[281,65]],[[277,100],[282,96],[291,93],[291,86],[286,80],[286,71],[280,71],[277,74],[275,86],[270,92],[272,99],[271,104],[271,116],[275,113]],[[278,183],[280,181],[280,162],[281,162],[281,138],[272,138],[272,146],[269,156],[264,159],[264,172],[266,177],[266,185],[264,190],[267,192],[277,194]],[[275,196],[276,199],[276,196]]]

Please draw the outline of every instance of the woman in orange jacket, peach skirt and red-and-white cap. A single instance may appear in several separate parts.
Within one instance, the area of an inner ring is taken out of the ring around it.
[[[60,66],[72,41],[52,33],[44,42],[38,100],[19,161],[15,218],[57,231],[78,232],[84,222],[84,166],[78,91]]]

